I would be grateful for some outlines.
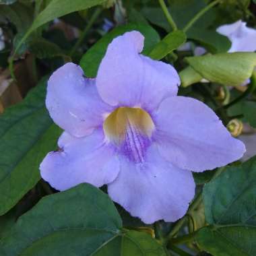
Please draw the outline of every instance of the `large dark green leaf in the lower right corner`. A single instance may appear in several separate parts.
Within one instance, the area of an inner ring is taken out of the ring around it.
[[[199,247],[212,255],[256,255],[256,157],[226,167],[203,189],[205,218]]]

